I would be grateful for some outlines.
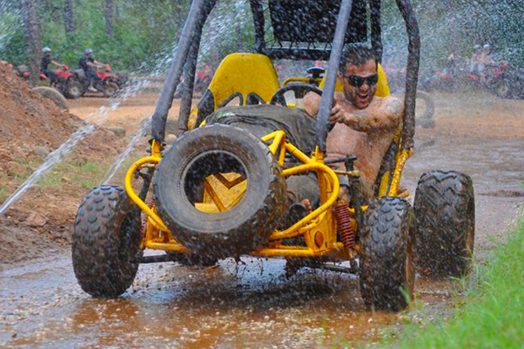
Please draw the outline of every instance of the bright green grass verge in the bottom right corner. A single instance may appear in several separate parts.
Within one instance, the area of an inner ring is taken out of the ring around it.
[[[524,347],[524,216],[466,286],[464,305],[447,321],[408,325],[400,348]]]

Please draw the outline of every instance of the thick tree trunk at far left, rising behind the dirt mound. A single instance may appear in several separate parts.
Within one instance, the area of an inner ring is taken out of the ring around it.
[[[40,71],[40,35],[38,29],[38,18],[36,15],[37,0],[23,0],[22,10],[24,13],[24,34],[29,54],[29,81],[36,84]]]

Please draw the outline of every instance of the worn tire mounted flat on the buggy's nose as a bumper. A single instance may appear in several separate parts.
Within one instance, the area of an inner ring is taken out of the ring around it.
[[[194,207],[203,180],[236,172],[247,179],[231,209]],[[245,129],[213,124],[184,133],[165,152],[153,181],[157,209],[174,237],[193,254],[223,258],[264,245],[285,214],[286,181],[268,147]]]

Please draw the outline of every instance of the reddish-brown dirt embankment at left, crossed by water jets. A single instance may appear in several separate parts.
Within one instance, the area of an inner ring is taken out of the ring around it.
[[[0,66],[0,204],[81,123],[79,117],[31,91],[13,70]],[[65,159],[68,165],[62,168],[81,174],[82,167],[115,155],[123,146],[124,141],[115,141],[113,133],[98,129]],[[84,170],[89,169],[92,166]],[[52,171],[42,181],[0,216],[0,262],[45,254],[57,242],[69,241],[69,224],[85,188],[67,172]],[[43,191],[45,187],[53,190]]]

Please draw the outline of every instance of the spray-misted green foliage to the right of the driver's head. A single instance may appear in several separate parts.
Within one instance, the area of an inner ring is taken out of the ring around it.
[[[451,52],[471,57],[473,46],[489,43],[495,58],[524,68],[522,0],[413,0],[421,37],[421,66],[444,67]],[[383,1],[385,61],[406,64],[407,36],[394,0]]]

